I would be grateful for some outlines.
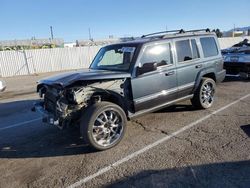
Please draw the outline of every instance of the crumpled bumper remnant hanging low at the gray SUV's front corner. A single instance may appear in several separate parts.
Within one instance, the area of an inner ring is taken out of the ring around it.
[[[42,115],[42,121],[44,123],[50,124],[50,125],[55,125],[59,126],[59,119],[56,118],[53,114],[47,112],[44,109],[44,102],[37,102],[34,104],[33,108],[31,109],[33,112],[38,112]]]

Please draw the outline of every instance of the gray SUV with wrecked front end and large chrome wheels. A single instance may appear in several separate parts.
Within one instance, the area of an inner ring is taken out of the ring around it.
[[[80,125],[84,141],[105,150],[121,141],[131,118],[188,99],[211,107],[224,78],[214,33],[158,32],[101,48],[89,69],[39,81],[33,110],[61,129]]]

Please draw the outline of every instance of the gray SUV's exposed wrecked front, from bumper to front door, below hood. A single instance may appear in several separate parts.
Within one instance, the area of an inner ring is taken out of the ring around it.
[[[116,91],[123,93],[121,87],[124,80],[111,80],[106,82],[88,83],[71,87],[59,85],[39,84],[37,92],[41,100],[32,109],[43,116],[43,122],[55,125],[60,129],[70,124],[77,124],[83,109],[101,99],[100,93]]]

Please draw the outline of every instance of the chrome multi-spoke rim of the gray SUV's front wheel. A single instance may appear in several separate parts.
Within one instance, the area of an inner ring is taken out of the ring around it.
[[[93,138],[101,146],[109,146],[117,142],[123,132],[123,122],[115,109],[107,109],[100,113],[93,125]]]

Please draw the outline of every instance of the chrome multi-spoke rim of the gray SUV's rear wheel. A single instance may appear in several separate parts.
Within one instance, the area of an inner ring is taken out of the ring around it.
[[[211,106],[214,100],[214,87],[212,83],[206,83],[201,90],[201,102],[206,106]]]

